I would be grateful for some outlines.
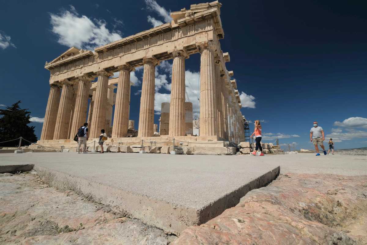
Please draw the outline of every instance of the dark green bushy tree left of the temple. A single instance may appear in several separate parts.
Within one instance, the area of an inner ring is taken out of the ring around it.
[[[0,109],[0,142],[13,140],[15,138],[23,137],[31,142],[36,142],[37,137],[34,134],[34,126],[28,126],[30,123],[30,112],[28,109],[21,109],[19,104],[12,104],[5,110]],[[22,146],[29,145],[30,143],[22,140]],[[6,143],[0,143],[0,146],[18,146],[19,141],[9,141]]]

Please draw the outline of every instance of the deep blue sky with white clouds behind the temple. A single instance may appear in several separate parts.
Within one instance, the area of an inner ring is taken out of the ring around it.
[[[279,137],[310,149],[317,120],[337,149],[367,146],[365,1],[221,2],[226,66],[234,71],[242,114],[262,120],[263,142]],[[92,49],[166,23],[170,11],[194,3],[200,1],[0,0],[1,108],[21,100],[39,137],[49,92],[46,61],[70,46]],[[171,64],[156,69],[156,123],[160,103],[169,102]],[[186,101],[196,113],[199,69],[199,54],[191,55]],[[142,69],[131,80],[130,119],[138,125]]]

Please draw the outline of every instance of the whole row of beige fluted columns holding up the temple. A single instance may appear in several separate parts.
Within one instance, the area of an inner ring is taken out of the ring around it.
[[[204,43],[199,47],[200,57],[200,136],[219,136],[223,139],[238,141],[242,137],[240,112],[235,106],[233,96],[226,84],[224,73],[221,74],[220,62],[215,60],[215,46]],[[161,134],[169,136],[185,136],[192,134],[192,119],[188,122],[185,109],[185,59],[188,55],[183,50],[171,52],[172,85],[169,113],[161,112]],[[154,123],[154,96],[155,96],[155,66],[159,64],[155,58],[143,60],[143,84],[140,101],[138,137],[153,136]],[[126,137],[128,130],[128,116],[130,108],[130,72],[134,71],[130,65],[118,66],[120,75],[117,82],[115,116],[113,120],[112,137]],[[90,138],[97,138],[100,130],[106,126],[106,117],[111,120],[111,110],[106,110],[108,103],[108,77],[112,74],[107,71],[97,71],[98,83],[93,90],[88,123]],[[91,87],[91,78],[80,76],[76,96],[73,83],[62,81],[60,86],[51,85],[46,115],[41,134],[41,140],[73,138],[77,129],[86,121],[88,106],[88,91]],[[113,88],[112,90],[113,95]],[[232,92],[233,93],[233,92]],[[73,106],[73,104],[75,106]],[[189,105],[188,105],[189,106]],[[191,104],[192,118],[192,104]],[[107,115],[106,115],[107,114]],[[168,117],[168,118],[167,118]],[[168,120],[168,123],[166,119]],[[242,118],[241,118],[242,119]],[[163,123],[163,120],[165,123]],[[188,124],[191,131],[187,131]]]

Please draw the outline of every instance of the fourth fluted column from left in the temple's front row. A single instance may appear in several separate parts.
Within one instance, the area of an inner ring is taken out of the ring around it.
[[[106,126],[106,101],[108,91],[108,77],[113,74],[106,71],[97,71],[98,80],[95,90],[93,115],[90,127],[90,138],[97,138],[101,129]]]

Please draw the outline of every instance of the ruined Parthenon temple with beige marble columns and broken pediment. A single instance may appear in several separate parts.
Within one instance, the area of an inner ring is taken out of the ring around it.
[[[116,144],[150,139],[155,123],[155,66],[172,59],[168,129],[164,129],[168,134],[161,132],[155,140],[175,137],[187,141],[239,143],[244,138],[243,116],[236,80],[232,79],[233,71],[226,69],[230,57],[222,51],[219,42],[224,38],[221,5],[218,1],[193,4],[189,10],[171,12],[170,23],[97,47],[94,51],[71,47],[46,62],[44,67],[50,71],[50,94],[40,142],[73,143],[77,130],[85,122],[89,123],[90,140],[97,138],[101,129],[110,127],[108,141]],[[200,53],[200,134],[194,138],[192,104],[185,102],[185,59],[195,53]],[[139,139],[131,140],[127,137],[130,72],[139,66],[143,66]],[[114,72],[119,72],[119,76],[110,78]],[[97,82],[92,82],[95,78]],[[113,92],[115,84],[116,94]]]

